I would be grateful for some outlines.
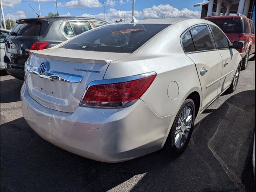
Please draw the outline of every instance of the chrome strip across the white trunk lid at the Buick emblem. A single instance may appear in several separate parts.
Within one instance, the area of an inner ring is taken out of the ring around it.
[[[70,83],[80,83],[83,79],[83,76],[80,76],[80,75],[52,71],[52,70],[50,70],[49,64],[47,64],[46,71],[43,74],[39,74],[38,68],[39,67],[32,66],[30,64],[26,65],[26,71],[28,71],[29,73],[31,73],[33,75],[39,76],[41,78],[65,81],[65,82],[70,82]]]

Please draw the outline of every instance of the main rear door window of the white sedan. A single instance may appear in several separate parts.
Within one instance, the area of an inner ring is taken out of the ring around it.
[[[212,50],[214,45],[207,26],[198,26],[190,30],[196,51]]]

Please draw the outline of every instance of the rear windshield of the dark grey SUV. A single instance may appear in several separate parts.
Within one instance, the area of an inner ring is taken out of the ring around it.
[[[12,30],[19,36],[38,36],[41,30],[40,22],[18,23]]]

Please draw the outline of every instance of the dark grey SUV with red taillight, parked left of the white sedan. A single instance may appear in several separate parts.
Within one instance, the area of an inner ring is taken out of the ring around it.
[[[24,80],[24,64],[30,50],[53,47],[82,32],[108,24],[84,17],[41,17],[20,19],[5,39],[7,73]]]

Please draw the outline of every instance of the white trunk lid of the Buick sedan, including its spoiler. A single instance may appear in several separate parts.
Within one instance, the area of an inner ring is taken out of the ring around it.
[[[86,86],[102,80],[109,63],[127,55],[63,48],[32,51],[26,64],[28,92],[43,106],[72,113],[79,106]],[[44,73],[40,68],[42,63]]]

